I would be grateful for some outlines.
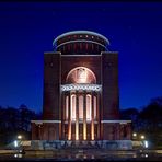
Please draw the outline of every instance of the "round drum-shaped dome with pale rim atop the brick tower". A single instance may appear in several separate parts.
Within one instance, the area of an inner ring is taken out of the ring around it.
[[[105,36],[90,31],[67,32],[53,42],[54,49],[62,55],[100,54],[107,50],[107,45],[109,40]]]

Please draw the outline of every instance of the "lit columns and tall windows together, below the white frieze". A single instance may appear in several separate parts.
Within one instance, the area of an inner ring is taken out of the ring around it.
[[[62,92],[62,139],[67,140],[95,140],[100,139],[100,92],[68,91]],[[72,101],[72,96],[76,96]],[[82,96],[82,103],[79,97]],[[74,106],[74,108],[73,108]],[[80,109],[82,108],[82,109]],[[73,114],[76,115],[73,118]],[[82,112],[83,111],[83,112]],[[82,113],[82,115],[81,115]],[[82,127],[80,129],[80,124]],[[68,126],[67,126],[68,125]],[[90,128],[88,128],[90,125]],[[65,129],[67,126],[67,136]],[[74,126],[74,138],[72,127]],[[80,132],[81,131],[81,132]],[[82,134],[82,136],[81,136]],[[88,134],[90,137],[88,137]]]

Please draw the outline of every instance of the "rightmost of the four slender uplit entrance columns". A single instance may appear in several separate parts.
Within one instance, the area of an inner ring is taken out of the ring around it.
[[[91,140],[94,140],[94,100],[91,93]]]

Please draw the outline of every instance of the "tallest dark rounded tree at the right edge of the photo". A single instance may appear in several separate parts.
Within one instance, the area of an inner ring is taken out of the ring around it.
[[[154,147],[162,147],[162,97],[151,99],[150,103],[139,114],[140,131]]]

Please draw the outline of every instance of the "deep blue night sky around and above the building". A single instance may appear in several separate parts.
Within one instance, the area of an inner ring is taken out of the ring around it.
[[[44,51],[73,30],[103,34],[118,51],[120,108],[162,96],[162,3],[1,2],[1,106],[42,111]]]

